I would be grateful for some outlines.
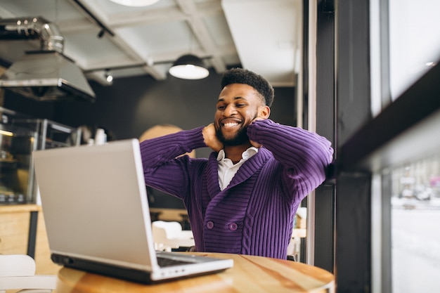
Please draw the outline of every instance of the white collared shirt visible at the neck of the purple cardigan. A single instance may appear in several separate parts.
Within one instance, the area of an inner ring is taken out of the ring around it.
[[[229,183],[231,183],[232,178],[235,176],[235,173],[237,173],[240,166],[257,152],[258,148],[250,147],[241,154],[240,162],[233,164],[231,159],[225,157],[224,150],[219,151],[219,155],[217,155],[217,162],[219,162],[220,190],[224,190]]]

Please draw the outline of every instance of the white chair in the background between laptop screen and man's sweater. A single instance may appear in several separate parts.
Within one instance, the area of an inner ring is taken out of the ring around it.
[[[179,222],[154,221],[152,230],[156,250],[171,252],[172,248],[194,246],[193,232],[182,230]]]

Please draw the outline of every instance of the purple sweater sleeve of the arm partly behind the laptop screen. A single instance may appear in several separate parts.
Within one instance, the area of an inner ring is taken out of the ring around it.
[[[179,156],[206,146],[202,129],[203,126],[141,142],[145,184],[183,197],[188,190],[189,170],[193,161],[187,155]]]

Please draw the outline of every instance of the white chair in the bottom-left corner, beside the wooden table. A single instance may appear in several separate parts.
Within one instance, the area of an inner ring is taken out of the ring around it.
[[[0,293],[50,293],[56,289],[56,275],[35,275],[35,261],[25,254],[0,254]]]

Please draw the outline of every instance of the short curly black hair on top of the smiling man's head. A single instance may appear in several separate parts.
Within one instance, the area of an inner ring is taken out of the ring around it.
[[[268,107],[271,107],[273,103],[273,87],[271,84],[261,75],[256,74],[250,70],[243,68],[232,68],[226,70],[221,77],[221,89],[228,84],[247,84],[252,86],[261,96]]]

